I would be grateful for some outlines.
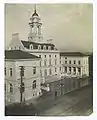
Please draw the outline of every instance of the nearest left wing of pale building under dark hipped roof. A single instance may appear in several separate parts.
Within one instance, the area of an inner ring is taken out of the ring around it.
[[[41,95],[40,58],[20,50],[5,52],[5,104],[20,102],[21,70],[24,92],[22,101]]]

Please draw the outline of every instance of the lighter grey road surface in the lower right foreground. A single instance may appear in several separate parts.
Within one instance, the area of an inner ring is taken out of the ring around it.
[[[92,113],[92,86],[64,95],[59,100],[49,103],[40,102],[41,116],[85,116]]]

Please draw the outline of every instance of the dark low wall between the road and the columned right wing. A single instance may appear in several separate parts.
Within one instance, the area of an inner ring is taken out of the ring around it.
[[[51,94],[52,97],[55,99],[56,97],[62,96],[68,92],[85,87],[90,83],[91,82],[89,77],[64,78],[64,79],[49,83],[49,87],[50,87],[49,94]]]

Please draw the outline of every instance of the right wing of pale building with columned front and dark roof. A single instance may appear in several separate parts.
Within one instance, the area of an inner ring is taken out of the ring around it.
[[[72,77],[89,76],[89,56],[80,52],[61,52],[60,71]]]

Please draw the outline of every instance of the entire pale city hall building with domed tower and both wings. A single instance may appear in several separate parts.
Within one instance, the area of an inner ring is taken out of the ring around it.
[[[19,66],[25,68],[25,100],[39,97],[42,95],[41,90],[52,91],[55,88],[56,95],[56,83],[60,84],[64,77],[89,76],[88,55],[60,52],[52,39],[43,39],[42,22],[36,9],[30,18],[29,27],[28,40],[21,40],[18,33],[12,34],[12,41],[5,52],[5,100],[9,103],[20,101]],[[53,89],[51,83],[55,86]]]

